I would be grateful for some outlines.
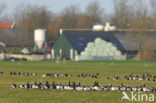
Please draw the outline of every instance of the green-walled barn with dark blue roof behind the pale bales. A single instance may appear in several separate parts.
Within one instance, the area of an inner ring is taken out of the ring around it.
[[[52,47],[52,56],[57,56],[67,59],[74,59],[80,54],[88,42],[93,42],[96,38],[102,38],[113,43],[121,51],[125,51],[120,41],[113,35],[113,32],[95,32],[92,30],[63,30],[60,33],[58,40]]]

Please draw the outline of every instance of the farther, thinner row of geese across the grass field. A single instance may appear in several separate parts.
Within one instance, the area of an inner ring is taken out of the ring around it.
[[[3,72],[0,72],[0,76],[3,75],[4,73]],[[23,76],[37,76],[38,73],[29,73],[29,72],[10,72],[10,75],[12,76],[20,76],[20,75],[23,75]],[[69,73],[61,73],[61,74],[58,74],[58,73],[46,73],[46,74],[43,74],[41,75],[41,77],[73,77],[72,74],[69,74]],[[99,73],[96,73],[95,75],[92,75],[90,73],[84,73],[84,74],[78,74],[77,75],[78,78],[99,78]],[[114,76],[114,77],[109,77],[107,76],[106,77],[106,80],[120,80],[121,77],[120,76]],[[156,82],[156,75],[152,76],[151,74],[148,74],[148,73],[143,73],[141,76],[139,75],[134,75],[133,73],[129,74],[129,75],[126,75],[124,76],[124,78],[122,79],[125,79],[127,81],[132,81],[132,80],[136,80],[136,81],[153,81],[153,82]]]

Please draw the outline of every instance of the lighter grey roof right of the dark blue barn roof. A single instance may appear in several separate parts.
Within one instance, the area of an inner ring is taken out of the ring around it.
[[[141,40],[141,48],[146,40],[156,40],[156,32],[148,32],[143,36],[134,32],[114,32],[116,38],[127,51],[137,51],[139,48],[139,40]]]

